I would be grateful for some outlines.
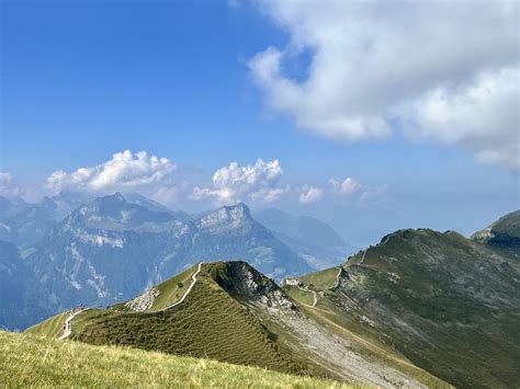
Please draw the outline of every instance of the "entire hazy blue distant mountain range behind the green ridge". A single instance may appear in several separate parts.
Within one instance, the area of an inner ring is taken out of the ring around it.
[[[5,285],[29,285],[42,298],[2,295],[0,325],[23,329],[78,304],[106,306],[200,261],[244,260],[278,281],[340,263],[349,253],[341,255],[340,247],[348,244],[329,226],[304,220],[281,224],[281,233],[257,221],[245,204],[189,215],[136,193],[98,198],[61,193],[38,204],[1,197],[1,240],[20,249],[9,245],[2,259],[2,268],[16,270],[3,272]],[[294,226],[308,236],[324,229],[313,240],[312,260],[280,238],[290,237]],[[338,244],[329,250],[331,240]],[[9,314],[13,305],[16,318]]]

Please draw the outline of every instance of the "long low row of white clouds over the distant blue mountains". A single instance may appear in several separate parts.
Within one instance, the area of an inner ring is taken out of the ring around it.
[[[263,161],[259,158],[255,163],[244,165],[230,162],[217,169],[207,184],[179,180],[176,173],[180,169],[168,158],[146,151],[133,153],[124,150],[94,167],[52,173],[45,180],[39,196],[64,191],[93,195],[139,192],[167,206],[186,202],[212,205],[245,202],[262,206],[279,201],[308,206],[326,198],[361,205],[363,198],[375,198],[377,196],[374,194],[378,193],[377,188],[362,185],[352,178],[343,181],[330,179],[329,185],[307,183],[292,186],[284,182],[285,172],[278,159]],[[26,197],[26,190],[14,185],[10,173],[0,172],[0,195]],[[381,194],[385,195],[383,192]],[[33,195],[31,199],[35,198],[37,196]],[[375,201],[380,202],[380,198]]]

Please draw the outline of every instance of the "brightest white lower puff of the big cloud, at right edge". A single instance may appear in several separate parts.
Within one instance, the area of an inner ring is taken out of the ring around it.
[[[502,69],[462,88],[439,87],[416,102],[411,126],[419,137],[462,142],[483,162],[520,169],[519,82],[518,69]]]

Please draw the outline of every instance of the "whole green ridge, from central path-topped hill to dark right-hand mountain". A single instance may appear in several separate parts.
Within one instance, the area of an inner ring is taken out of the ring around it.
[[[244,261],[200,263],[133,299],[63,312],[26,333],[355,385],[518,387],[519,215],[472,239],[399,230],[281,285]]]

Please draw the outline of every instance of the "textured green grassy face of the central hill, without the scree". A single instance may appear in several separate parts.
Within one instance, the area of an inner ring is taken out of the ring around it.
[[[218,264],[204,264],[202,268],[196,284],[181,305],[166,311],[155,311],[157,304],[143,312],[90,309],[72,320],[70,339],[94,345],[133,346],[284,373],[330,377],[276,342],[276,335],[214,281],[219,276],[215,273]],[[160,307],[174,302],[179,297],[177,293],[168,294],[167,286],[178,287],[178,278],[185,281],[192,273],[193,270],[186,271],[158,286],[162,289],[161,295],[173,297],[173,300],[160,299]],[[188,284],[183,282],[184,287]],[[61,319],[55,317],[49,320]],[[59,335],[50,332],[46,322],[29,331],[54,337]]]

